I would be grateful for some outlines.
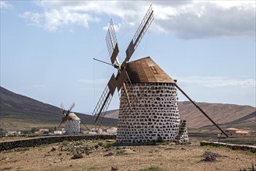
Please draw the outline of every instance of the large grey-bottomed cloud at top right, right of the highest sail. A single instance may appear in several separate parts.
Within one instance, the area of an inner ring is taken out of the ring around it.
[[[207,37],[237,37],[255,35],[255,4],[253,2],[192,2],[163,7],[156,24],[163,30],[184,39]],[[170,8],[168,10],[165,10]],[[156,12],[157,13],[157,12]]]

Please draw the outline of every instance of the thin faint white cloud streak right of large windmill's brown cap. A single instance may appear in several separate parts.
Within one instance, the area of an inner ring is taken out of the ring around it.
[[[200,77],[200,76],[192,76],[192,77],[181,77],[178,78],[178,82],[193,84],[203,87],[256,87],[255,79],[248,78],[236,78],[229,79],[225,77]]]

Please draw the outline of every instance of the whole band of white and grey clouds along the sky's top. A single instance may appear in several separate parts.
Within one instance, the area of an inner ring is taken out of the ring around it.
[[[99,22],[106,15],[121,19],[114,22],[116,30],[121,30],[139,23],[150,5],[149,2],[46,0],[36,4],[43,12],[24,12],[23,18],[51,32],[70,25],[88,28],[90,22]],[[254,1],[160,1],[153,2],[153,10],[152,30],[183,39],[255,35]]]

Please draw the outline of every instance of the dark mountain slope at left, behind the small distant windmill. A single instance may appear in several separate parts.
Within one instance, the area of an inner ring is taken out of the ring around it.
[[[93,116],[82,113],[75,114],[83,123],[94,127]],[[4,130],[58,127],[61,117],[61,110],[58,107],[16,94],[0,86],[0,127]],[[103,120],[103,126],[116,125],[116,119],[105,118]]]

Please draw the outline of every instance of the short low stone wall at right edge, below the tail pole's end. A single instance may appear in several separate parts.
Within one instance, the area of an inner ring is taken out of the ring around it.
[[[244,150],[244,151],[250,151],[255,153],[256,152],[256,146],[254,145],[234,145],[234,144],[226,144],[223,142],[212,142],[212,141],[202,141],[200,142],[200,145],[212,145],[215,147],[223,146],[226,148],[231,148],[233,150]]]

